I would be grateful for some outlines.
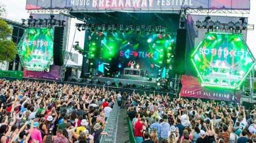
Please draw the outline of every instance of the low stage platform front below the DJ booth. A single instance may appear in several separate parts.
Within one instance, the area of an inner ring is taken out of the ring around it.
[[[151,87],[157,87],[157,82],[154,81],[146,81],[146,77],[135,77],[135,76],[120,76],[119,78],[113,78],[113,77],[94,77],[94,80],[99,80],[100,82],[115,82],[119,83],[121,82],[123,85],[125,84],[135,84],[135,85],[150,85]]]

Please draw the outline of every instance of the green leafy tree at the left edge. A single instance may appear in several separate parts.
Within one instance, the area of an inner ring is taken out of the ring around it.
[[[0,19],[0,63],[11,62],[16,56],[16,45],[11,40],[12,28]]]

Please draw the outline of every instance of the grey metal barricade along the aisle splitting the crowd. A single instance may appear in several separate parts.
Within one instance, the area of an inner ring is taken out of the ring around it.
[[[109,135],[102,135],[100,139],[100,143],[112,143],[116,142],[117,136],[117,125],[118,125],[118,118],[119,118],[119,106],[117,101],[115,101],[114,107],[106,120],[106,125],[104,131],[107,132]]]

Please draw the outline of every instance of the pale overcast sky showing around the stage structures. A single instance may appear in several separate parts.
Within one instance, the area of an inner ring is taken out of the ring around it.
[[[21,21],[22,18],[27,19],[29,17],[29,13],[27,13],[25,7],[26,7],[26,0],[8,0],[8,1],[0,1],[0,3],[6,5],[7,9],[7,18],[12,19],[14,21]],[[256,24],[256,0],[250,1],[250,14],[222,14],[224,16],[245,16],[248,17],[248,23],[249,24]],[[219,15],[219,14],[218,14]],[[75,23],[81,23],[81,21],[72,18],[71,20],[71,26],[70,26],[70,37],[69,37],[69,46],[68,51],[72,47],[72,41],[74,39],[75,41],[79,41],[79,45],[83,47],[84,42],[84,31],[76,32],[76,35],[74,37],[74,33],[76,30]],[[256,28],[256,26],[255,26]],[[254,31],[248,31],[247,32],[247,45],[250,48],[252,54],[256,58],[256,30]],[[72,52],[77,53],[74,51],[74,49],[71,50]],[[79,54],[79,60],[78,64],[81,65],[82,63],[82,55]]]

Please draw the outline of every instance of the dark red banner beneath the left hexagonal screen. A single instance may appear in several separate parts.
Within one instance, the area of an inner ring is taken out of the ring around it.
[[[60,80],[60,67],[52,65],[49,72],[28,71],[24,69],[23,75],[28,78]]]

